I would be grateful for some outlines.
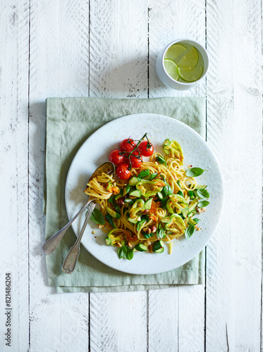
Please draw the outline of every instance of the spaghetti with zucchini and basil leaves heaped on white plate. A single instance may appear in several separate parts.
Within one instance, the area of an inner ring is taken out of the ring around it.
[[[171,253],[173,239],[183,234],[190,238],[200,230],[199,219],[192,217],[205,210],[200,207],[200,194],[209,196],[207,186],[197,185],[195,177],[188,176],[183,151],[176,141],[166,139],[163,150],[164,155],[153,153],[140,168],[131,168],[128,180],[102,174],[85,189],[85,194],[100,204],[106,243],[125,252],[120,258],[128,258],[126,254],[135,250],[161,253],[163,241]]]

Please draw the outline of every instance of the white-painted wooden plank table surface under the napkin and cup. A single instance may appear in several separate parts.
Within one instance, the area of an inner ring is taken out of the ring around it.
[[[260,0],[0,1],[0,351],[263,351],[261,13]],[[155,71],[158,52],[181,37],[211,61],[186,92]],[[207,96],[226,199],[204,286],[58,295],[45,285],[48,96]]]

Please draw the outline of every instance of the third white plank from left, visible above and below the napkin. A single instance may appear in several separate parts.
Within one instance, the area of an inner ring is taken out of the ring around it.
[[[147,98],[147,1],[90,1],[90,96]],[[147,293],[90,294],[91,351],[146,351]]]

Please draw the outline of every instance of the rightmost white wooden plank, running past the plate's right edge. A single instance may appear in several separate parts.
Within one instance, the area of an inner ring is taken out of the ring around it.
[[[257,0],[207,1],[207,141],[221,163],[226,195],[207,247],[207,351],[260,348],[260,6]]]

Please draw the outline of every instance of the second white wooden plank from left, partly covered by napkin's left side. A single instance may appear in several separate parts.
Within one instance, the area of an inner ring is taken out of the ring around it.
[[[45,99],[87,95],[88,1],[30,1],[30,344],[31,351],[87,351],[89,296],[45,287]]]

